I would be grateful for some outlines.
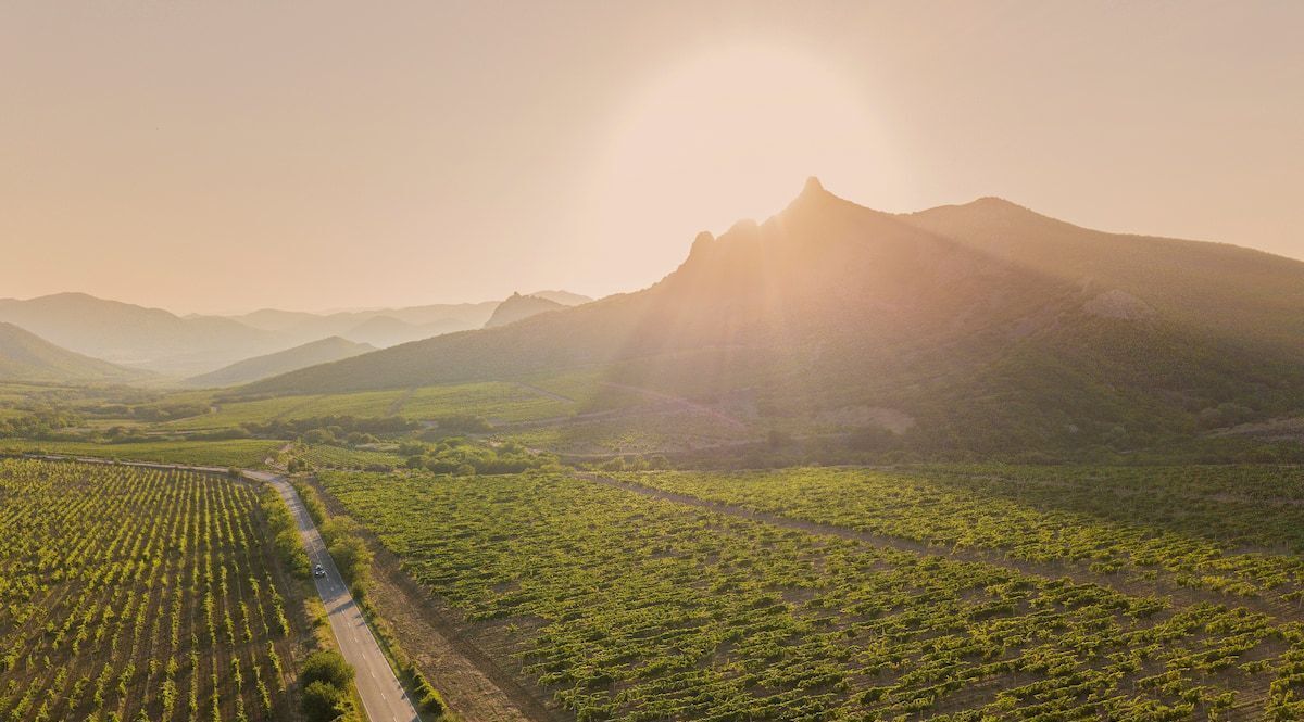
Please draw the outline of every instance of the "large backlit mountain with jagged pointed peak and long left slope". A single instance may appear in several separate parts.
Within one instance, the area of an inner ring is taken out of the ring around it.
[[[998,198],[885,214],[814,179],[636,293],[288,373],[335,392],[605,369],[765,417],[892,409],[915,443],[1129,448],[1304,408],[1304,263]]]

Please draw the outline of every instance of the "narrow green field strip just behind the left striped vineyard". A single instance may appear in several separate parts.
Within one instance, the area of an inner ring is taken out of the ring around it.
[[[90,442],[44,442],[0,439],[0,452],[40,451],[70,456],[99,456],[125,461],[159,461],[197,467],[261,467],[263,459],[284,446],[267,439],[233,439],[218,442],[141,442],[103,444]]]

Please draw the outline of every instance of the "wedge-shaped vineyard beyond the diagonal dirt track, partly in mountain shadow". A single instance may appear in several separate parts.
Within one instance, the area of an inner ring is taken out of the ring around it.
[[[941,549],[1167,583],[1283,611],[1304,589],[1304,476],[1168,469],[784,469],[622,474],[656,489]]]

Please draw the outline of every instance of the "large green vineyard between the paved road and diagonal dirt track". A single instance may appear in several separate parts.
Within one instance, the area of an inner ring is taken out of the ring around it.
[[[580,721],[1304,714],[1304,626],[1235,603],[1176,603],[563,474],[322,481],[484,649]],[[776,507],[785,491],[802,502],[797,481],[773,486]],[[921,524],[930,503],[947,508],[936,490],[918,502]],[[964,524],[981,524],[970,511]]]

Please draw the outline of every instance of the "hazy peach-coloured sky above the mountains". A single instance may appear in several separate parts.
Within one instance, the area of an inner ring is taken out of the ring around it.
[[[600,296],[808,175],[1304,258],[1304,3],[0,0],[0,297]]]

